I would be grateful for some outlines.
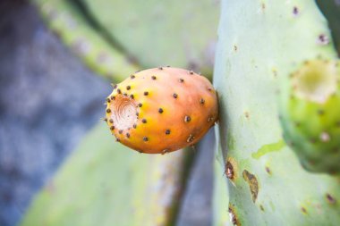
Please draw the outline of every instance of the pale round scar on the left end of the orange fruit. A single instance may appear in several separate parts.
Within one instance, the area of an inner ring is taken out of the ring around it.
[[[117,130],[128,130],[137,121],[137,104],[127,96],[116,96],[115,102],[108,105],[107,110],[106,113],[111,113],[109,121],[113,121]]]

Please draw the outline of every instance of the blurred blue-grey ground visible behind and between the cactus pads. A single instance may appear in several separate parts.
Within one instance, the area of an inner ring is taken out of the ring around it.
[[[110,89],[51,34],[27,1],[0,1],[0,226],[20,221],[34,194],[99,121]],[[210,225],[212,146],[202,148],[177,221],[181,226]]]

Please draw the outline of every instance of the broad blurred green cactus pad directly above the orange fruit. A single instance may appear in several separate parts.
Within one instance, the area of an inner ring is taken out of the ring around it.
[[[93,18],[143,67],[169,64],[211,75],[218,1],[83,2]]]

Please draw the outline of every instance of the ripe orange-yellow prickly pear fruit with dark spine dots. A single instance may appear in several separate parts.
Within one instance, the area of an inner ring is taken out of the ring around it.
[[[136,72],[114,86],[106,103],[105,120],[116,140],[149,154],[194,145],[218,117],[211,83],[179,68]]]

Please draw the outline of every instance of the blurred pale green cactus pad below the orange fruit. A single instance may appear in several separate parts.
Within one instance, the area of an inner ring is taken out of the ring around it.
[[[21,226],[173,225],[188,154],[136,153],[115,143],[102,122],[38,194]]]

